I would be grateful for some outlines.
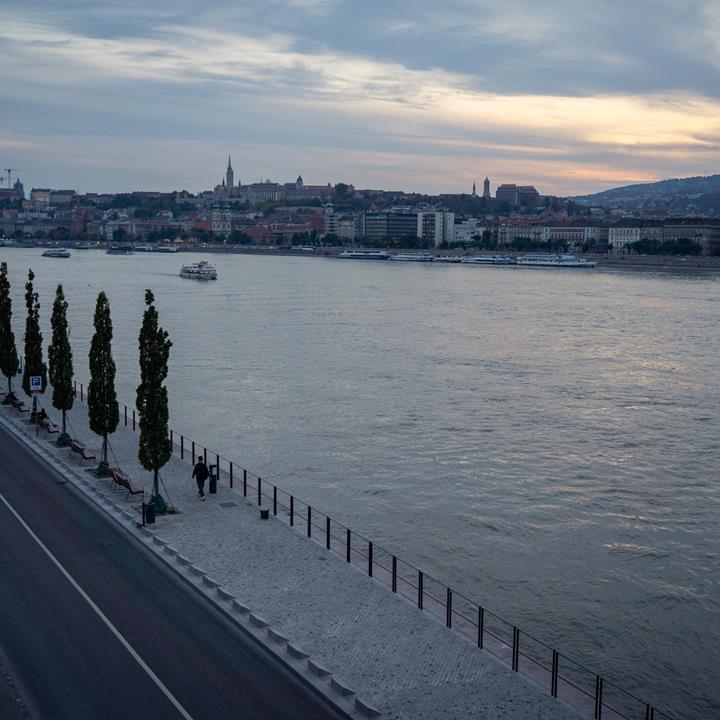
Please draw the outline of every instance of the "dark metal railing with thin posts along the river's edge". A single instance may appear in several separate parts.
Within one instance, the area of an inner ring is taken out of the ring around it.
[[[84,401],[86,393],[81,383],[76,383],[75,395]],[[135,409],[127,405],[121,408],[121,421],[137,430]],[[202,457],[208,465],[217,466],[218,482],[226,482],[298,532],[324,544],[347,563],[420,610],[436,616],[446,627],[502,660],[513,672],[528,676],[552,697],[568,703],[585,717],[675,720],[247,468],[217,452],[209,452],[205,445],[172,429],[170,440],[173,454],[181,460],[195,463]]]

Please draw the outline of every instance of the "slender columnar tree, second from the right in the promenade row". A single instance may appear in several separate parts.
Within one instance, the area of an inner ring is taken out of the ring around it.
[[[95,334],[90,343],[90,383],[88,385],[88,416],[90,429],[102,435],[102,460],[98,474],[108,467],[107,438],[115,432],[120,421],[115,394],[115,361],[112,357],[112,320],[107,295],[101,292],[95,305]]]

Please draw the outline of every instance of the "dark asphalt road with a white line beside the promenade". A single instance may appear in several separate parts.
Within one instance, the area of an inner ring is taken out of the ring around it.
[[[0,717],[345,716],[0,426]]]

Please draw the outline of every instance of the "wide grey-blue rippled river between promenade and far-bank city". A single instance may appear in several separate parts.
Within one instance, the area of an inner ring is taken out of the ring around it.
[[[720,275],[0,249],[18,337],[145,288],[171,424],[677,718],[720,717]],[[49,403],[48,403],[49,404]]]

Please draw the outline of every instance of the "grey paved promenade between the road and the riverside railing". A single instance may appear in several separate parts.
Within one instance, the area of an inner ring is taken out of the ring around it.
[[[48,408],[49,396],[42,404]],[[49,408],[48,408],[49,410]],[[50,412],[58,421],[58,414]],[[72,435],[100,456],[100,439],[87,425],[87,407],[78,399],[69,413]],[[1,406],[0,419],[25,434],[36,449],[78,479],[87,481],[83,462],[57,449],[27,414]],[[124,427],[110,438],[114,458],[147,496],[151,475],[137,460],[138,434]],[[211,457],[208,462],[212,462]],[[307,662],[319,679],[332,678],[334,689],[372,716],[397,720],[477,720],[487,718],[565,720],[581,715],[399,594],[367,577],[324,542],[304,536],[270,516],[261,520],[256,498],[221,482],[206,502],[197,496],[189,462],[173,457],[162,470],[165,498],[179,511],[159,517],[152,532],[201,568],[224,595],[251,614],[269,645],[286,645],[294,660]],[[122,503],[109,479],[93,480],[101,493]],[[207,485],[206,485],[207,492]],[[137,509],[139,496],[127,501]],[[139,515],[138,515],[139,518]],[[227,597],[229,597],[227,595]]]

